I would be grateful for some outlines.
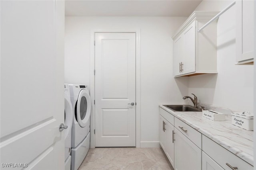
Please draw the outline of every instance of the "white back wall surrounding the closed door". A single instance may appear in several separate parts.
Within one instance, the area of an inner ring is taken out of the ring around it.
[[[92,30],[140,29],[141,147],[158,146],[158,105],[183,104],[187,78],[173,78],[172,35],[185,17],[66,17],[65,83],[90,84]]]

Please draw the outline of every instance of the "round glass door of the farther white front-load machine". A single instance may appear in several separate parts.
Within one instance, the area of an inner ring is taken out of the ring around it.
[[[80,91],[76,106],[76,120],[81,127],[85,127],[90,121],[91,99],[89,91],[83,89]]]

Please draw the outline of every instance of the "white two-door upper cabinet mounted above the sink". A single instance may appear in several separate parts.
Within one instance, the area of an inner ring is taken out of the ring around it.
[[[193,12],[172,37],[175,77],[217,73],[217,21],[198,32],[216,14]]]

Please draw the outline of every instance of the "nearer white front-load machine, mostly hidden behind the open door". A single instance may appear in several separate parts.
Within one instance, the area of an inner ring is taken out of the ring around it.
[[[64,84],[64,116],[65,125],[68,126],[65,132],[65,170],[71,168],[71,129],[73,123],[73,107],[70,101],[70,92],[68,84]]]

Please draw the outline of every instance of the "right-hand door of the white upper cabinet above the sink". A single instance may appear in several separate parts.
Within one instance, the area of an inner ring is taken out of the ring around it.
[[[183,32],[182,74],[196,71],[196,21],[193,21]]]

